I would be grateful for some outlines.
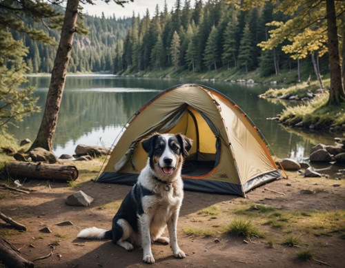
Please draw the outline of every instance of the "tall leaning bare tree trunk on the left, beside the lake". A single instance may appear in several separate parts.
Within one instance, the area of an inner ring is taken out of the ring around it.
[[[39,127],[39,132],[30,150],[37,147],[42,147],[48,151],[52,150],[52,138],[57,126],[57,116],[60,110],[63,88],[66,81],[66,71],[70,59],[70,52],[72,50],[75,25],[77,23],[78,5],[79,0],[67,1],[59,47],[57,48],[52,78],[50,79],[46,108],[44,110],[41,126]]]

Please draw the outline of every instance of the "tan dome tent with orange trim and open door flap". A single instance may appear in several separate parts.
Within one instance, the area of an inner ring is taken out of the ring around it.
[[[152,132],[193,139],[182,169],[186,190],[245,196],[280,176],[264,137],[233,101],[184,84],[157,94],[130,118],[97,181],[134,184],[148,158],[140,141]]]

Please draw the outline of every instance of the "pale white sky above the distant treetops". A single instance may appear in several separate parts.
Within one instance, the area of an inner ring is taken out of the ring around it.
[[[162,11],[164,8],[164,0],[134,0],[133,2],[126,3],[124,8],[115,4],[113,1],[107,4],[105,1],[95,0],[95,5],[86,4],[83,5],[83,12],[89,15],[96,15],[101,17],[102,12],[104,12],[105,17],[112,17],[112,14],[115,14],[115,17],[132,17],[133,11],[137,16],[138,12],[140,17],[144,17],[146,14],[146,8],[150,12],[150,17],[155,14],[156,5],[159,5],[159,11]],[[168,5],[168,10],[170,11],[172,6],[175,4],[175,0],[166,0]]]

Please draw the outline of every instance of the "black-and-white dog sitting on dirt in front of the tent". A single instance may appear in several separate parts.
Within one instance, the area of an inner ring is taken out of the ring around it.
[[[185,258],[177,244],[176,229],[184,198],[181,168],[193,141],[182,134],[154,133],[141,145],[148,153],[148,161],[115,214],[112,229],[90,227],[81,230],[77,238],[112,239],[128,251],[133,245],[141,245],[147,263],[155,262],[151,243],[170,242],[174,256]],[[166,226],[170,240],[161,236]]]

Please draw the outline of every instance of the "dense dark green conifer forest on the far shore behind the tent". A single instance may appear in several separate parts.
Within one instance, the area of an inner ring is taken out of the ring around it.
[[[291,59],[282,51],[284,43],[266,51],[257,45],[269,38],[273,27],[266,23],[289,19],[273,12],[275,6],[270,1],[246,11],[227,2],[185,0],[182,4],[177,0],[171,11],[157,6],[152,19],[148,12],[142,19],[132,17],[124,43],[117,45],[115,72],[128,74],[174,66],[178,71],[193,72],[257,70],[261,76],[269,76],[282,70],[296,70],[297,74],[297,65],[303,65],[308,75],[314,73],[311,57]],[[327,73],[327,56],[314,56],[317,70]]]

